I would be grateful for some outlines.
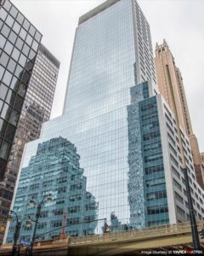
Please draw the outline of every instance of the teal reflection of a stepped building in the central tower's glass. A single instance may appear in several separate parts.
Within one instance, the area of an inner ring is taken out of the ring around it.
[[[37,226],[37,236],[54,230],[63,223],[66,212],[65,231],[70,236],[94,234],[97,222],[98,203],[87,190],[87,178],[79,166],[77,148],[65,138],[57,137],[38,145],[26,168],[21,171],[21,179],[15,197],[14,212],[21,218],[35,218],[36,207],[29,207],[31,198],[37,201],[42,195],[52,194],[52,203],[42,206]],[[88,222],[88,224],[86,224]],[[31,241],[33,227],[22,225],[20,240]],[[8,242],[13,241],[15,223],[10,225]],[[59,236],[61,229],[44,235],[41,239]]]

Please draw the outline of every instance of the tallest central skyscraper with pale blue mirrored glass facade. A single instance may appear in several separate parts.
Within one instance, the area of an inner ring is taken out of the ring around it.
[[[20,194],[20,189],[27,189],[26,183],[36,175],[34,165],[39,177],[44,175],[41,168],[46,164],[37,160],[37,155],[40,157],[45,151],[42,153],[39,148],[62,137],[77,148],[82,177],[86,177],[84,191],[93,196],[95,208],[86,209],[97,210],[92,214],[97,226],[90,228],[91,233],[103,230],[96,218],[107,218],[111,230],[118,231],[188,220],[183,151],[196,218],[204,216],[204,192],[195,181],[189,138],[158,93],[152,56],[150,28],[135,0],[106,1],[79,19],[64,113],[43,125],[38,140],[26,144],[12,204],[14,211],[26,216],[31,197],[41,200],[45,193],[52,193],[54,203],[50,210],[47,205],[42,207],[42,211],[49,212],[48,218],[41,219],[50,230],[53,210],[63,208],[69,212],[69,207],[75,206],[71,218],[78,218],[79,207],[87,199],[86,193],[79,192],[83,186],[78,190],[76,185],[72,192],[71,176],[61,187],[65,187],[65,195],[82,195],[80,201],[67,201],[65,196],[66,202],[62,200],[59,206],[55,187],[47,189],[37,178],[33,180],[39,186],[37,190]],[[53,158],[59,161],[57,154]],[[71,165],[71,157],[67,155],[66,159]],[[58,177],[61,169],[49,168],[48,173]],[[86,221],[86,213],[80,221]],[[5,241],[12,241],[12,226],[7,229]],[[80,226],[73,224],[70,228],[67,234],[82,234]],[[40,229],[37,232],[42,234]],[[24,230],[20,236],[26,236]],[[52,233],[46,239],[51,237]],[[31,240],[31,230],[26,239]]]

